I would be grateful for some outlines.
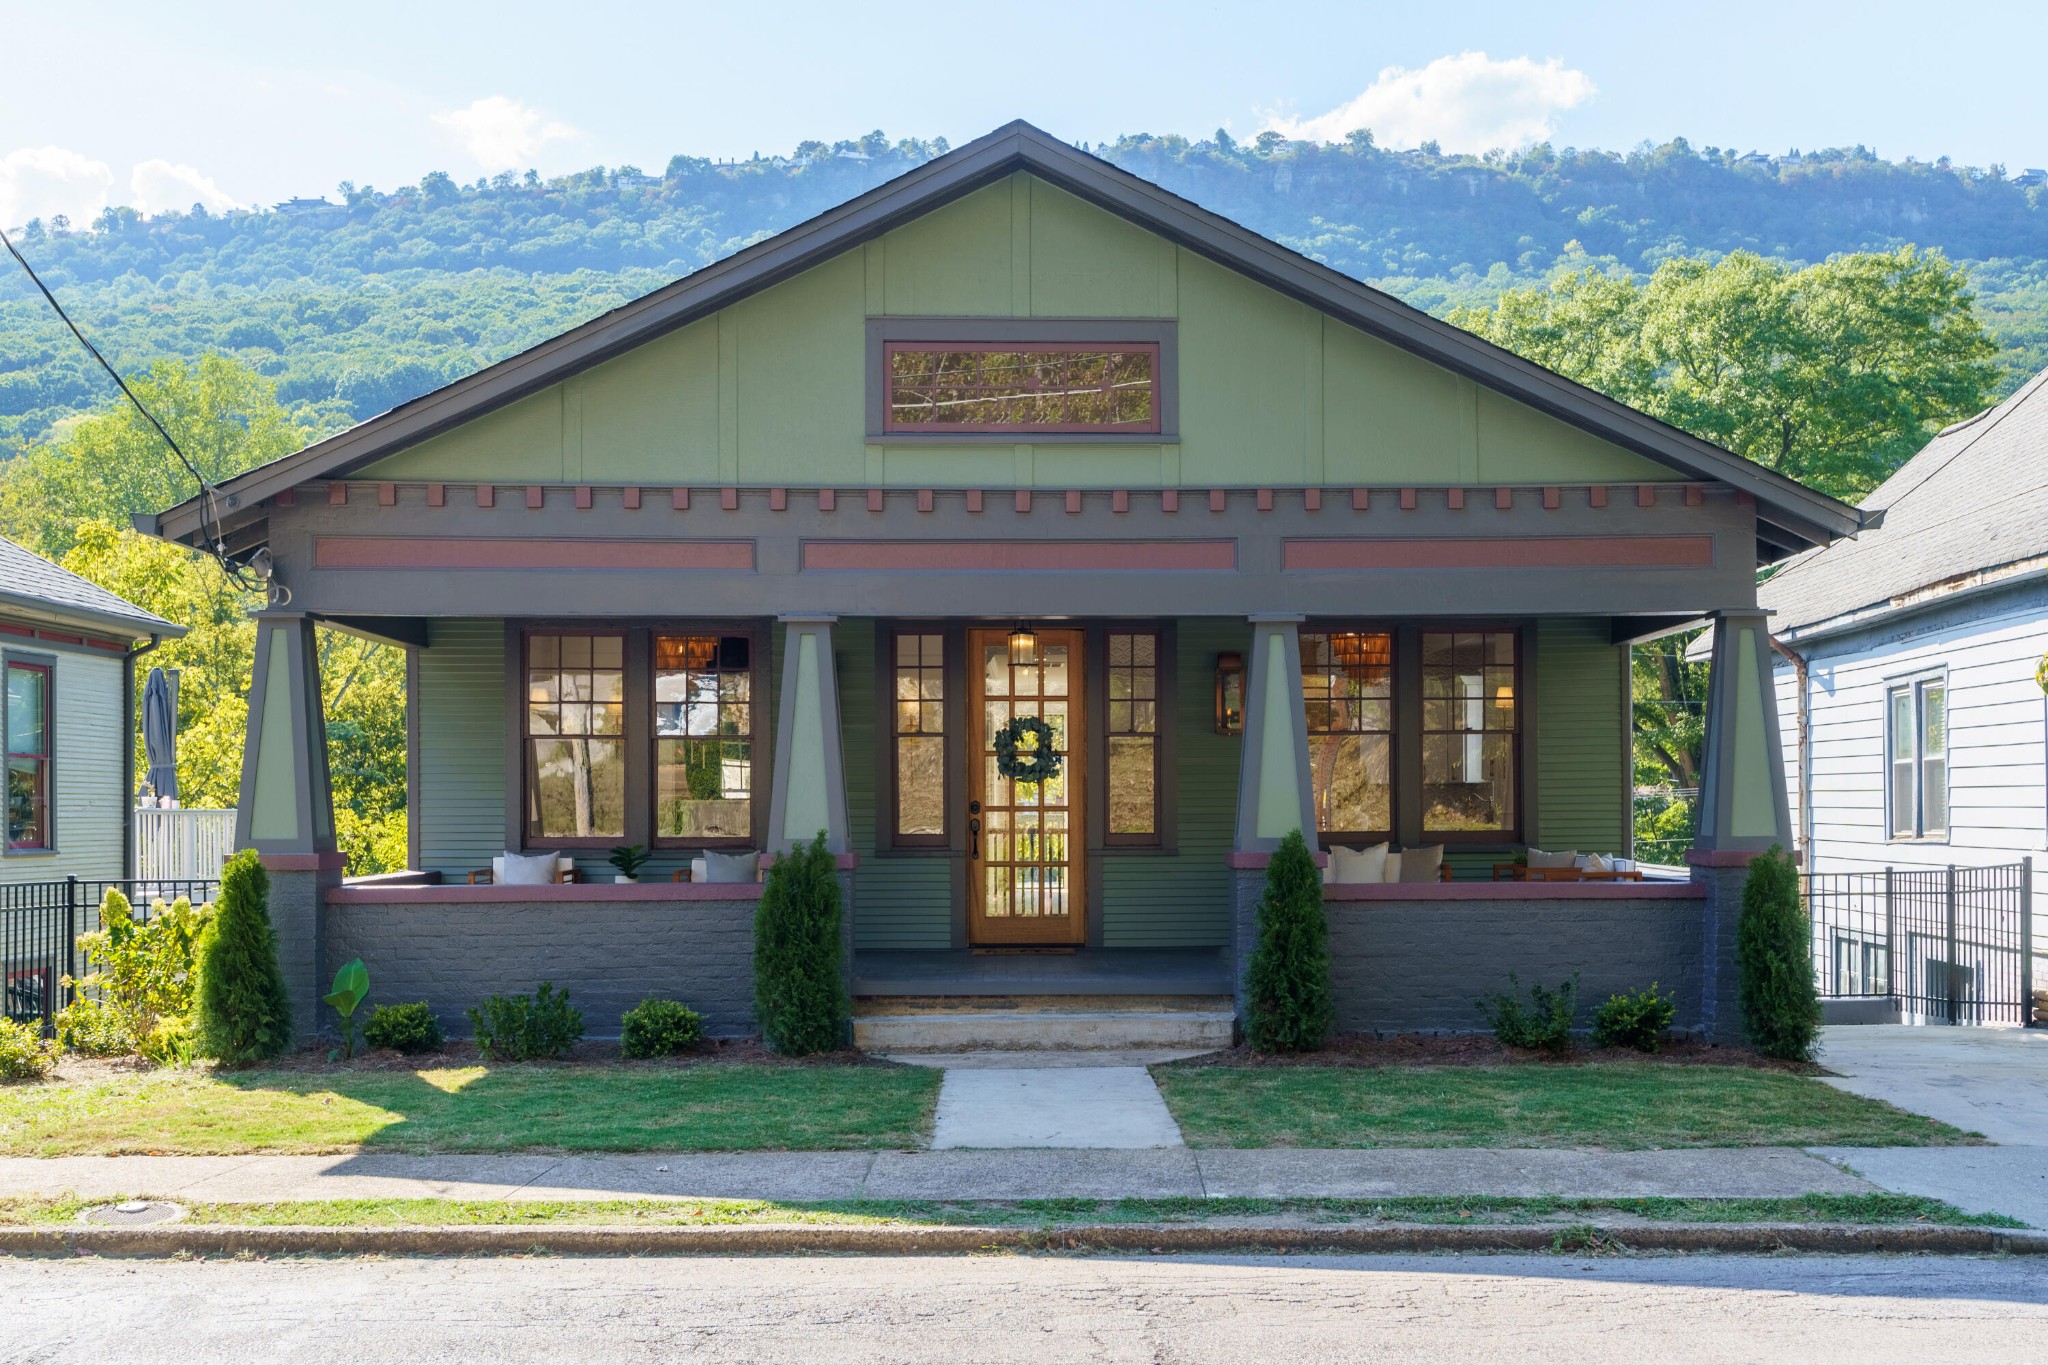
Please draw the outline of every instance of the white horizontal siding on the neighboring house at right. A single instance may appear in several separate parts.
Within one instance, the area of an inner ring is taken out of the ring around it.
[[[1970,610],[1976,618],[1970,618]],[[2042,690],[2048,591],[2019,589],[1948,616],[1894,624],[1808,655],[1812,708],[1808,802],[1819,872],[1942,868],[2042,860]],[[1894,681],[1946,671],[1950,833],[1890,841],[1884,806],[1884,708]],[[1796,745],[1796,684],[1778,669],[1788,755]],[[2044,884],[2048,888],[2048,884]]]

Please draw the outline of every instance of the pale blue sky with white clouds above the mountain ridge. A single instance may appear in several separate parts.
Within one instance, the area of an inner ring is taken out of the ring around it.
[[[971,27],[961,16],[991,23]],[[1006,20],[997,25],[993,20]],[[0,223],[526,166],[786,151],[1014,117],[2048,164],[2048,6],[63,0],[0,10]]]

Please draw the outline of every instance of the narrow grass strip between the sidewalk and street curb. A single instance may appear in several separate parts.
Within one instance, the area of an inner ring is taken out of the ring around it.
[[[86,1207],[111,1199],[0,1199],[0,1226],[76,1224]],[[319,1199],[291,1203],[195,1203],[184,1222],[236,1228],[467,1228],[596,1224],[641,1228],[731,1228],[750,1224],[895,1226],[895,1228],[1075,1228],[1104,1224],[1276,1224],[1346,1226],[1360,1222],[1522,1226],[1585,1218],[1673,1224],[1944,1224],[2019,1228],[2003,1214],[1964,1214],[1919,1195],[1804,1195],[1798,1199],[1022,1199],[920,1201],[850,1199],[770,1203],[760,1199]]]

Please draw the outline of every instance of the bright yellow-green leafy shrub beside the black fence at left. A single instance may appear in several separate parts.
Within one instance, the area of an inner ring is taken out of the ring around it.
[[[78,935],[78,950],[92,968],[76,984],[80,995],[57,1015],[57,1038],[90,1056],[141,1054],[152,1062],[188,1062],[199,976],[199,941],[213,923],[213,907],[193,909],[178,896],[158,900],[147,923],[135,919],[127,896],[109,888],[100,900],[100,927]],[[74,1042],[76,1040],[76,1042]]]

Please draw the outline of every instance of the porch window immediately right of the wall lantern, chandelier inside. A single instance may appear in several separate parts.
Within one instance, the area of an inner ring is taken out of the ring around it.
[[[1309,772],[1325,837],[1391,837],[1395,827],[1395,636],[1300,636]]]

